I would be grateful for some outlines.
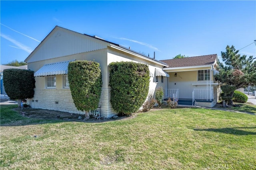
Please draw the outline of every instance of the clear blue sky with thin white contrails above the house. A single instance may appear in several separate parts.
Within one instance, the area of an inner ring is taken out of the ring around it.
[[[0,1],[1,64],[24,61],[58,25],[157,60],[256,56],[256,1]],[[249,45],[252,43],[251,45]],[[249,45],[248,47],[245,47]],[[242,49],[245,47],[244,49]]]

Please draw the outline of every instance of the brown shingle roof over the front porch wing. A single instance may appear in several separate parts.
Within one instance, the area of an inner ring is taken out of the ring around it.
[[[170,59],[170,60],[160,60],[166,63],[169,67],[189,67],[189,66],[205,66],[212,65],[216,61],[217,54],[213,55],[202,55],[196,57],[186,57],[181,59]]]

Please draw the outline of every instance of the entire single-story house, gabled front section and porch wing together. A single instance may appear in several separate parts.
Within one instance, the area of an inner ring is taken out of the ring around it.
[[[103,84],[99,110],[104,117],[117,114],[110,104],[108,64],[112,62],[147,64],[148,94],[162,87],[164,97],[175,98],[179,104],[212,107],[218,101],[218,83],[213,78],[217,55],[158,61],[100,37],[56,26],[25,60],[36,80],[34,98],[27,103],[34,108],[84,114],[76,109],[68,84],[68,63],[75,60],[100,63]]]

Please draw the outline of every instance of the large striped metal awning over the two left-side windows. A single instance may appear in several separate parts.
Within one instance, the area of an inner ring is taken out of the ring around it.
[[[68,74],[68,64],[70,61],[75,61],[75,60],[45,64],[34,73],[34,76],[51,76],[51,75],[57,75],[57,74]]]

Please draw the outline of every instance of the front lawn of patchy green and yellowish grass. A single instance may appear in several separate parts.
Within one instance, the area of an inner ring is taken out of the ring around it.
[[[256,116],[160,109],[104,123],[28,119],[1,106],[1,169],[256,169]],[[37,137],[34,137],[37,135]]]

